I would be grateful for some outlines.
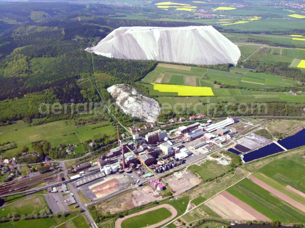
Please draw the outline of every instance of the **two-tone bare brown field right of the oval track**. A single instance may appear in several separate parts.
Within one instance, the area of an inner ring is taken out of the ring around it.
[[[227,191],[221,192],[205,204],[224,219],[270,221]]]

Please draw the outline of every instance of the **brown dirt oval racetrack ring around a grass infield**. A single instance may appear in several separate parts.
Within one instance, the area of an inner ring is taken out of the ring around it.
[[[172,214],[170,217],[168,217],[167,219],[164,219],[163,221],[159,222],[159,223],[156,223],[156,224],[153,224],[153,225],[150,225],[150,226],[145,226],[146,228],[155,228],[155,227],[159,227],[159,226],[162,226],[163,224],[169,222],[170,220],[174,219],[177,215],[178,215],[178,212],[177,210],[172,206],[172,205],[169,205],[169,204],[161,204],[159,206],[156,206],[156,207],[152,207],[152,208],[149,208],[149,209],[146,209],[144,211],[140,211],[140,212],[137,212],[137,213],[134,213],[134,214],[131,214],[131,215],[127,215],[127,216],[124,216],[123,218],[119,218],[115,221],[114,223],[114,226],[115,228],[122,228],[122,222],[125,220],[125,219],[129,219],[131,217],[134,217],[134,216],[138,216],[138,215],[142,215],[142,214],[145,214],[147,212],[150,212],[150,211],[154,211],[154,210],[157,210],[159,208],[166,208],[167,210],[170,211],[170,213]]]

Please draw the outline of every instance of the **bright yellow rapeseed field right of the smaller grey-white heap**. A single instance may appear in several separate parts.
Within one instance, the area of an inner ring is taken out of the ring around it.
[[[155,90],[160,92],[178,93],[178,96],[214,96],[213,90],[210,87],[151,84]]]

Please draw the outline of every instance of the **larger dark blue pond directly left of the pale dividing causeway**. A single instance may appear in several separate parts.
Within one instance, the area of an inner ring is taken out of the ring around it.
[[[274,142],[268,144],[260,149],[253,150],[252,152],[246,153],[243,156],[245,162],[249,162],[258,158],[262,158],[271,154],[284,151],[281,147],[276,145]]]

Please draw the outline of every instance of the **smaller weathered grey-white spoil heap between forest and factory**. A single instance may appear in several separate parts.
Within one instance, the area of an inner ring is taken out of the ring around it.
[[[156,100],[139,94],[134,87],[127,84],[113,85],[107,91],[116,99],[116,104],[124,113],[147,122],[157,121],[160,107]]]

